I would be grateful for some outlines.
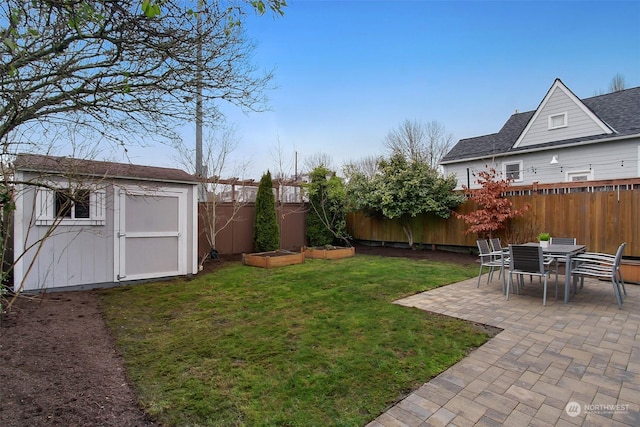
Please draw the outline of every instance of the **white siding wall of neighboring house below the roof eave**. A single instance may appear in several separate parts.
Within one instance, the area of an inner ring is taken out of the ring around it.
[[[551,157],[558,156],[558,163],[551,165]],[[533,182],[554,183],[570,181],[572,173],[590,173],[590,180],[636,178],[640,176],[640,139],[608,143],[593,143],[574,147],[555,147],[543,151],[501,156],[484,160],[451,163],[444,166],[445,175],[454,174],[457,189],[467,185],[467,168],[471,188],[479,185],[474,172],[494,167],[502,172],[505,162],[522,161],[522,181],[514,185],[531,185]]]

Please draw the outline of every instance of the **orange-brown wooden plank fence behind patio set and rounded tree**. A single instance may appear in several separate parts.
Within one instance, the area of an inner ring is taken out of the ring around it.
[[[576,237],[588,251],[615,253],[627,242],[625,257],[640,257],[640,179],[590,181],[513,187],[507,197],[514,208],[529,206],[524,216],[511,221],[498,233],[508,243],[534,241],[543,231],[551,236]],[[457,209],[468,213],[476,209],[467,201]],[[417,245],[454,246],[475,249],[476,234],[465,234],[467,225],[451,216],[413,218]],[[396,220],[371,218],[361,212],[347,217],[347,231],[356,240],[408,242]]]

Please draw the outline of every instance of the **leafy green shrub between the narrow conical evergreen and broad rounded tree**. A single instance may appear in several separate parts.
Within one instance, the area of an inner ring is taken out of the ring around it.
[[[310,246],[342,244],[351,246],[347,236],[346,193],[342,179],[317,166],[305,185],[309,196],[307,238]]]

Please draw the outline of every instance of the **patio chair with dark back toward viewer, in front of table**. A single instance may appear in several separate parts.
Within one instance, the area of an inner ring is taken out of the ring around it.
[[[547,305],[547,282],[551,275],[549,268],[553,260],[545,259],[540,246],[509,245],[509,280],[507,283],[506,299],[509,299],[513,275],[518,276],[518,293],[524,286],[524,276],[538,276],[544,280],[542,305]],[[558,276],[556,275],[556,299],[558,299]]]

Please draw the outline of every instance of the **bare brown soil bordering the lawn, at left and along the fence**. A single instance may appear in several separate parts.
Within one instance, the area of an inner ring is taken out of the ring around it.
[[[360,245],[356,254],[476,260],[470,254],[388,246]],[[241,259],[209,260],[203,273]],[[0,313],[0,426],[158,425],[137,404],[95,291],[21,296]]]

